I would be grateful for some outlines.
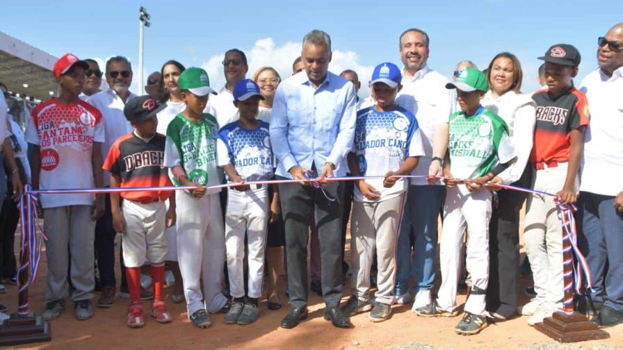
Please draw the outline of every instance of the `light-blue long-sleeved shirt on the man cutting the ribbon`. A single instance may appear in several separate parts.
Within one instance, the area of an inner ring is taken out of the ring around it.
[[[275,93],[270,118],[270,141],[279,176],[299,165],[335,165],[334,176],[346,175],[344,157],[353,146],[357,98],[350,81],[331,72],[314,88],[305,72],[284,80]]]

